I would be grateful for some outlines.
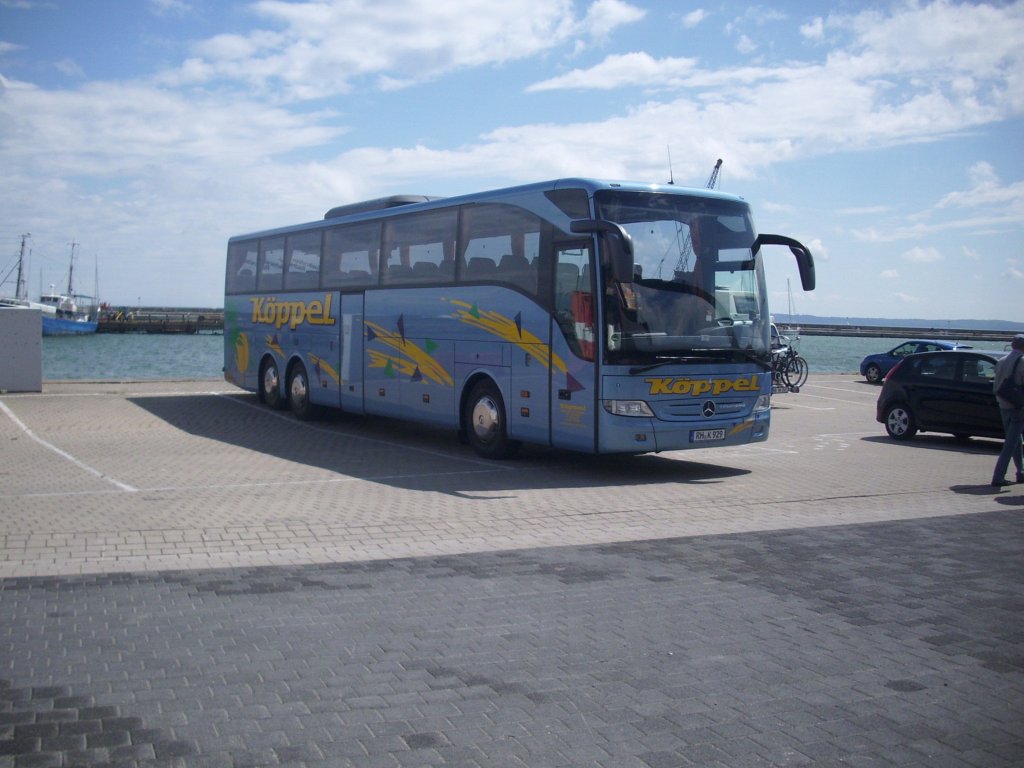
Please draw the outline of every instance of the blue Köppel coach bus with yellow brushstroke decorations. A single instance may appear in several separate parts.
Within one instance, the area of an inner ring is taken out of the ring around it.
[[[762,246],[740,198],[559,179],[341,206],[231,238],[224,377],[271,408],[450,427],[481,456],[768,436]]]

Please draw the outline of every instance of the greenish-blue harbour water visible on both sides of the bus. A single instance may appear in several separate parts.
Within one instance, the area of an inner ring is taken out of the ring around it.
[[[902,339],[803,336],[797,349],[814,373],[857,373],[860,360]],[[979,343],[1001,349],[1001,345]],[[43,379],[220,379],[224,337],[220,334],[95,334],[43,338]]]

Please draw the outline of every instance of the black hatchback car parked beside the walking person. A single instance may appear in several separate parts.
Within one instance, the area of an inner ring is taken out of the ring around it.
[[[922,352],[904,357],[886,376],[876,419],[890,437],[908,440],[919,431],[1002,437],[992,393],[995,364],[1006,352]]]

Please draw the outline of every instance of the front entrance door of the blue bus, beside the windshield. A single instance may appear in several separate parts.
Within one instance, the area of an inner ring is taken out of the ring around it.
[[[593,452],[596,445],[597,297],[591,241],[555,248],[551,328],[551,444]]]

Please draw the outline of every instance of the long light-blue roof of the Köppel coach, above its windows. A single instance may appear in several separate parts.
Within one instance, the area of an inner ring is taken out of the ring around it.
[[[306,228],[323,226],[325,221],[331,223],[344,223],[362,219],[375,219],[386,217],[394,213],[395,208],[401,208],[402,213],[410,211],[425,211],[437,208],[447,208],[449,206],[465,205],[466,203],[486,203],[508,200],[521,195],[538,191],[549,191],[554,189],[585,189],[589,196],[601,189],[622,189],[626,191],[657,191],[670,195],[686,195],[689,197],[715,198],[718,200],[733,200],[742,202],[742,198],[727,193],[707,189],[703,187],[677,186],[676,184],[664,183],[653,184],[640,181],[613,181],[605,179],[570,177],[553,179],[550,181],[538,181],[519,186],[506,186],[497,189],[486,189],[483,191],[469,193],[456,197],[433,197],[428,195],[392,195],[385,198],[376,198],[358,203],[336,206],[329,210],[323,219],[309,221],[300,224],[274,227],[261,231],[237,234],[228,242],[237,240],[250,240],[259,237],[269,237],[273,234],[284,234]],[[337,221],[336,221],[337,220]]]

